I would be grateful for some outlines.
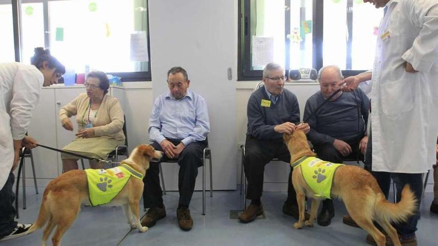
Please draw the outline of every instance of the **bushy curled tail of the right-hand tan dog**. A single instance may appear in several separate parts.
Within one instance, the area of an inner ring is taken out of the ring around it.
[[[395,223],[406,221],[417,210],[417,199],[409,184],[403,188],[401,197],[398,203],[391,203],[381,193],[381,198],[376,201],[376,217],[382,221]]]

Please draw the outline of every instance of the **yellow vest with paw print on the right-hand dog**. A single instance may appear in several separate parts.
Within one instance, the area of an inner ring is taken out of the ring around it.
[[[305,156],[292,164],[292,167],[300,165],[304,181],[315,192],[315,196],[330,199],[334,173],[343,164],[333,164],[316,157]]]

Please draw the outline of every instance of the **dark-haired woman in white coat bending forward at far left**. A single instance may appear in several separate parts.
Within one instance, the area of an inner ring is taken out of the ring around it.
[[[21,146],[35,142],[25,134],[41,85],[57,83],[65,73],[65,67],[44,48],[35,48],[30,62],[32,65],[0,63],[0,241],[24,236],[31,226],[14,221],[12,171],[18,164]]]

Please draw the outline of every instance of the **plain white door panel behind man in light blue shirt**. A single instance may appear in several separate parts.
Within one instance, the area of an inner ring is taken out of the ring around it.
[[[221,190],[236,188],[236,21],[235,0],[149,0],[153,97],[168,92],[171,67],[187,70],[190,89],[208,103],[213,187]],[[228,68],[233,71],[231,80]],[[177,190],[178,165],[164,164],[163,172],[166,188]],[[201,180],[197,179],[197,190]]]

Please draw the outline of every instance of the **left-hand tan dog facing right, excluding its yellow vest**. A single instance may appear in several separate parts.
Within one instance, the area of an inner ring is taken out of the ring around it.
[[[143,174],[149,168],[151,159],[160,159],[162,152],[155,151],[150,145],[139,145],[122,164],[128,165],[135,171]],[[122,206],[128,223],[132,229],[145,232],[147,227],[140,224],[139,202],[143,194],[143,182],[138,178],[129,178],[121,191],[111,200],[107,206]],[[45,246],[52,230],[56,227],[52,237],[53,246],[61,244],[61,238],[75,221],[81,204],[89,202],[89,187],[87,174],[84,170],[71,170],[63,173],[50,181],[44,190],[43,200],[38,218],[29,229],[28,234],[43,227],[43,239],[41,245]]]

